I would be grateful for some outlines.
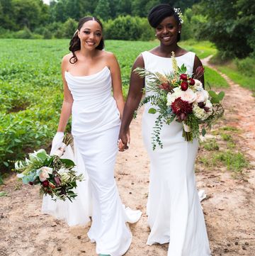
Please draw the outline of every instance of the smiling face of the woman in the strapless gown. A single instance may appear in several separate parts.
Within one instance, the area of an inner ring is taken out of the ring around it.
[[[86,21],[78,31],[81,48],[94,50],[102,39],[102,28],[97,21]]]

